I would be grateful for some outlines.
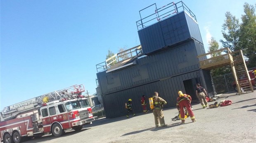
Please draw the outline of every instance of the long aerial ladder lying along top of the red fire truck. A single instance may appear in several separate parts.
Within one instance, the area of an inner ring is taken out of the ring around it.
[[[38,97],[19,102],[17,104],[7,106],[2,110],[1,117],[4,120],[15,118],[19,113],[29,111],[31,109],[39,108],[43,103],[61,99],[73,99],[77,98],[84,92],[83,85],[73,85],[62,90],[56,90]]]

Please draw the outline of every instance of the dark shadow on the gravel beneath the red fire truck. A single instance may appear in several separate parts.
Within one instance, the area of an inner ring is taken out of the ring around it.
[[[45,136],[42,136],[40,138],[31,138],[31,139],[27,139],[27,140],[25,139],[23,143],[47,142],[47,141],[50,141],[50,140],[55,139],[55,138],[62,138],[64,136],[72,136],[73,134],[77,134],[78,132],[83,132],[83,131],[88,130],[88,129],[90,129],[90,128],[81,129],[81,131],[74,131],[74,130],[66,131],[60,137],[55,137],[55,136],[52,136],[52,135],[45,135]]]

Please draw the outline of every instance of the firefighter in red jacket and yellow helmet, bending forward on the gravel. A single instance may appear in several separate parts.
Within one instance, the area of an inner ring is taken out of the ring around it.
[[[180,108],[180,120],[181,124],[185,123],[185,113],[184,113],[184,107],[187,108],[188,115],[190,116],[192,122],[196,122],[196,118],[194,116],[194,113],[191,109],[191,97],[188,98],[186,94],[183,94],[181,91],[178,92],[179,97],[177,98],[177,106]]]

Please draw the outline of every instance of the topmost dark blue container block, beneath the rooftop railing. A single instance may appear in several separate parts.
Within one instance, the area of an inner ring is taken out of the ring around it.
[[[188,39],[203,43],[197,22],[184,11],[143,28],[138,34],[145,55]]]

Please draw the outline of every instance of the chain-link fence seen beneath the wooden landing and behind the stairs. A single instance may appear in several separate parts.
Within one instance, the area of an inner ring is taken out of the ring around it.
[[[256,67],[250,68],[248,69],[248,71],[253,69],[256,69]],[[235,83],[235,79],[232,73],[225,74],[222,76],[212,77],[212,79],[213,79],[213,84],[217,94],[235,91],[235,89],[233,89],[233,84]]]

